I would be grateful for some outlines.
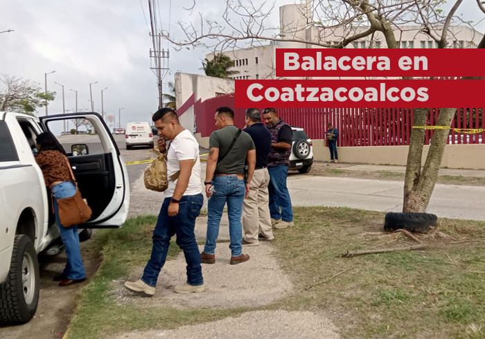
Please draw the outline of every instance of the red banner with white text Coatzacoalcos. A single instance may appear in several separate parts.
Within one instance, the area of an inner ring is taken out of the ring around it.
[[[236,107],[483,107],[485,80],[236,80]]]

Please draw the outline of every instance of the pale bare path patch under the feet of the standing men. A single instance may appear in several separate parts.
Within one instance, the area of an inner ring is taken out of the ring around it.
[[[166,262],[154,297],[140,297],[127,290],[123,286],[124,280],[112,282],[112,296],[118,304],[168,305],[175,309],[232,309],[271,304],[292,293],[292,283],[274,259],[271,244],[243,248],[243,253],[251,255],[251,259],[238,265],[229,264],[231,253],[228,246],[228,243],[219,243],[215,249],[215,264],[202,264],[206,284],[204,293],[180,295],[173,291],[175,285],[186,282],[185,257],[180,253],[177,259]],[[143,268],[136,268],[131,275],[132,280],[138,279],[142,273]]]

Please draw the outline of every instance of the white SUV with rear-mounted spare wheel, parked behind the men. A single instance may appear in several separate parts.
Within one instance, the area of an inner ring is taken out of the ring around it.
[[[313,143],[305,131],[299,127],[292,127],[293,140],[290,154],[290,170],[308,173],[313,163]]]

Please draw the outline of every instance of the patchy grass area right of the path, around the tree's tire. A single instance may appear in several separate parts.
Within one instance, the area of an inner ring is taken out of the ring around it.
[[[382,230],[380,212],[294,208],[294,214],[296,226],[276,234],[276,255],[298,291],[281,307],[321,309],[344,338],[485,337],[485,223],[441,221],[442,232],[470,244],[342,258],[347,249],[406,246],[409,239],[365,235]]]

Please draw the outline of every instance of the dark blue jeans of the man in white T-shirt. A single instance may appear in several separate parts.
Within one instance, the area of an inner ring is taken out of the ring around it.
[[[200,252],[195,241],[195,218],[200,214],[204,197],[202,194],[184,195],[180,199],[179,213],[168,216],[170,198],[164,199],[158,215],[157,225],[153,230],[152,255],[143,271],[141,280],[152,287],[157,285],[158,275],[167,259],[168,246],[173,235],[177,235],[177,245],[182,248],[187,263],[187,283],[193,286],[204,284]]]

